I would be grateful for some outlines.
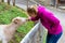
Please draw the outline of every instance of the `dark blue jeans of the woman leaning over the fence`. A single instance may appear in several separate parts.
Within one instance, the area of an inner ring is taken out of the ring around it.
[[[50,33],[48,33],[47,43],[57,43],[61,35],[62,35],[62,32],[60,34],[50,34]]]

